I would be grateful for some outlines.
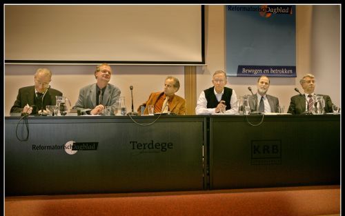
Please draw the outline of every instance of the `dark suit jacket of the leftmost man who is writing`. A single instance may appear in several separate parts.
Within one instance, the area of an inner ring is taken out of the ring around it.
[[[50,88],[46,95],[43,97],[43,108],[46,109],[48,105],[56,105],[57,99],[55,96],[62,96],[62,92],[56,90],[54,88]],[[24,106],[29,104],[29,106],[36,105],[34,104],[34,97],[36,97],[34,93],[34,86],[26,86],[23,88],[19,88],[19,92],[17,95],[16,101],[14,101],[14,105],[12,106],[10,112],[22,112]],[[37,108],[32,108],[33,115],[37,114]]]

